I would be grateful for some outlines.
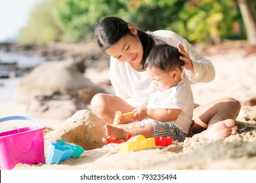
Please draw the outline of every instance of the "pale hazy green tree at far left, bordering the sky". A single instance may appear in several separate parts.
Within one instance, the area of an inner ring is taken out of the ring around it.
[[[62,31],[53,19],[52,2],[43,1],[33,8],[30,20],[22,28],[19,42],[22,44],[45,44],[49,41],[60,41]]]

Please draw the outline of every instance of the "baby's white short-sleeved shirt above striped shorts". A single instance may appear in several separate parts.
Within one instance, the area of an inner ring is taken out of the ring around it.
[[[183,69],[184,71],[184,69]],[[164,92],[157,90],[150,95],[147,108],[179,108],[181,113],[178,118],[172,122],[183,133],[188,134],[192,122],[194,99],[190,87],[190,81],[182,72],[182,80]],[[151,121],[151,120],[150,120]]]

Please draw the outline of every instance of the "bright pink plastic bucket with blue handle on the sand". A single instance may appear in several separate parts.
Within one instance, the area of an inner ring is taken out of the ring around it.
[[[38,126],[0,133],[0,169],[12,169],[18,163],[45,163],[43,130],[46,127],[26,116],[0,118],[0,122],[9,120],[29,120]]]

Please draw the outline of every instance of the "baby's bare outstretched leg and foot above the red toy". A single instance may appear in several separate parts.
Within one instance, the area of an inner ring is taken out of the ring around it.
[[[114,127],[110,124],[106,124],[104,127],[106,130],[106,136],[111,139],[125,139],[129,134],[133,136],[144,135],[144,137],[149,138],[152,137],[154,133],[154,126],[152,124],[146,124],[142,127],[125,129]]]

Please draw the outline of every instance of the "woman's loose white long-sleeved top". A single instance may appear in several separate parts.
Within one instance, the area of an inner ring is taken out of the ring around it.
[[[209,59],[205,59],[181,36],[172,31],[154,31],[154,36],[162,41],[177,47],[180,43],[192,60],[194,73],[185,71],[192,82],[210,82],[215,77],[215,69]],[[110,81],[116,95],[134,107],[148,101],[151,93],[156,92],[154,84],[146,74],[133,69],[129,62],[121,63],[115,58],[110,58]]]

